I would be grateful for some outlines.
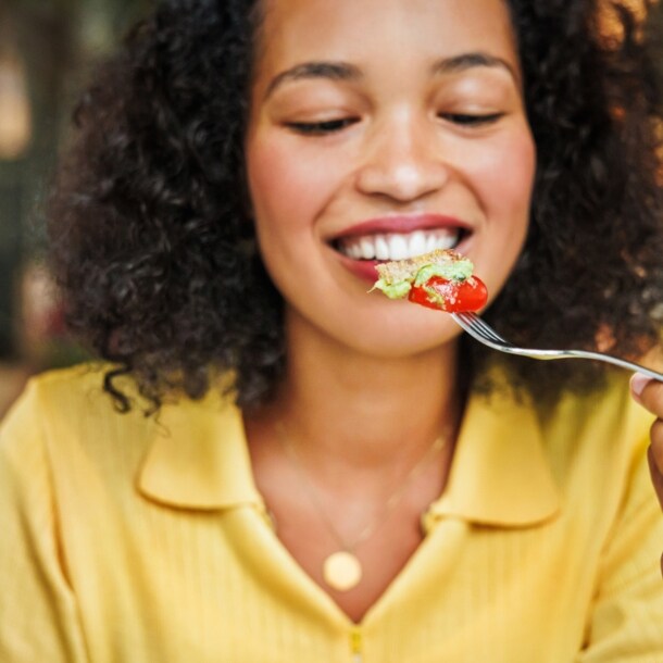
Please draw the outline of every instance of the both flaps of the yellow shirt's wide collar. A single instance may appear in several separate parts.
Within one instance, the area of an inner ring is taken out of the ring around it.
[[[149,499],[185,509],[264,511],[239,410],[217,396],[164,405],[138,474]],[[502,391],[470,398],[442,497],[425,515],[524,527],[553,517],[560,498],[535,410]]]

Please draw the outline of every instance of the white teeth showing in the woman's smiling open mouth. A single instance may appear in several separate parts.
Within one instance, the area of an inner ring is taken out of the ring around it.
[[[405,260],[435,249],[454,249],[466,235],[462,228],[417,229],[343,237],[334,248],[352,260]]]

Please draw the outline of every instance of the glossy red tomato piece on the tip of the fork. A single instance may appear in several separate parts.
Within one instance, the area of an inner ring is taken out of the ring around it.
[[[428,291],[427,291],[428,290]],[[434,292],[429,292],[433,290]],[[436,298],[436,295],[440,298]],[[446,311],[461,313],[478,311],[486,304],[488,289],[480,278],[471,276],[466,280],[447,280],[441,276],[431,276],[421,286],[412,286],[408,299],[414,303]]]

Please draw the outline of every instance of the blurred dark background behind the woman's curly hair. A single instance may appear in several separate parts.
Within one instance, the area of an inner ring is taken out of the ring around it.
[[[0,0],[0,418],[30,374],[85,356],[43,264],[43,200],[92,63],[155,1]],[[663,76],[663,43],[659,59]]]

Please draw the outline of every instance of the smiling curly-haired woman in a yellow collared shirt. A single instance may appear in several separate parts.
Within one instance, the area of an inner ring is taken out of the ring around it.
[[[172,0],[133,34],[50,217],[110,363],[1,433],[3,661],[663,659],[628,376],[367,292],[453,247],[515,341],[654,345],[660,98],[603,18]]]

